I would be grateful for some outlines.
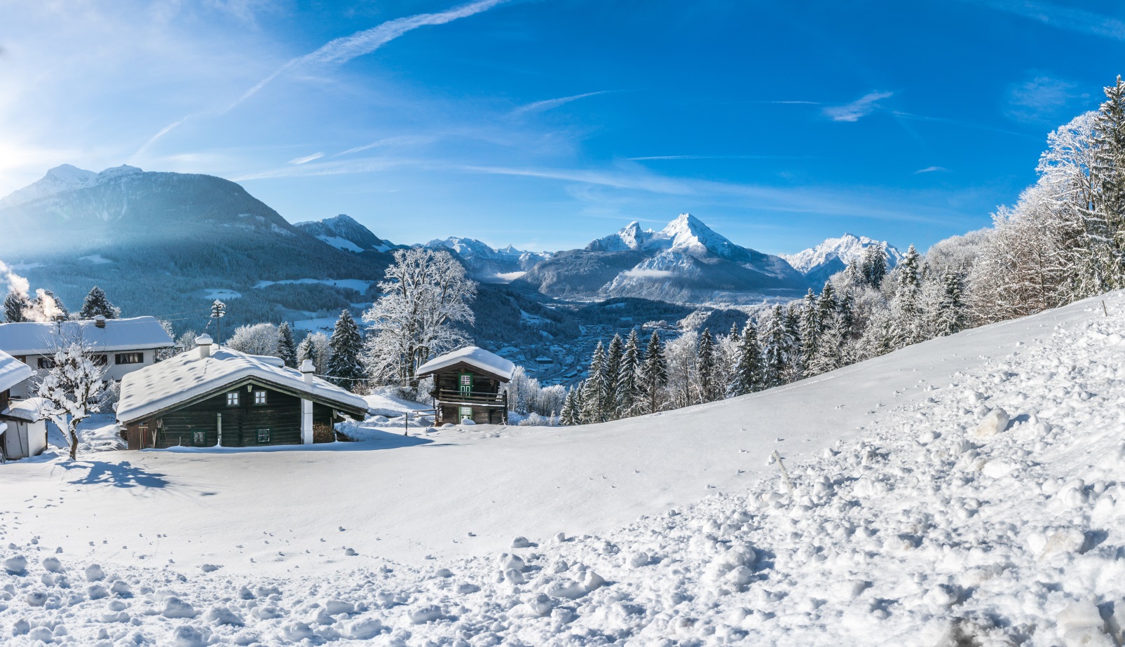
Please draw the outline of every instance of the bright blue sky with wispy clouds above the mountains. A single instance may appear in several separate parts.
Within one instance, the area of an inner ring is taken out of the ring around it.
[[[793,252],[986,226],[1123,72],[1116,2],[132,0],[0,9],[0,192],[210,173],[290,221]]]

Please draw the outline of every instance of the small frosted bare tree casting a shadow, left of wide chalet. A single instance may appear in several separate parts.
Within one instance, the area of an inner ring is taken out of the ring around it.
[[[93,413],[105,388],[106,365],[96,361],[96,354],[81,336],[69,336],[56,325],[52,366],[36,387],[37,395],[44,398],[39,412],[66,430],[71,460],[78,455],[78,425]]]

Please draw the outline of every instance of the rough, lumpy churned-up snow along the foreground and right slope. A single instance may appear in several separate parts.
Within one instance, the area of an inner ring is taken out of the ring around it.
[[[1106,302],[1125,311],[1120,293]],[[1119,645],[1125,323],[1097,300],[1069,308],[1083,316],[879,410],[863,437],[786,458],[792,495],[773,473],[595,534],[285,577],[181,573],[124,547],[96,566],[47,536],[4,538],[0,631],[99,647]],[[35,528],[28,503],[3,502],[9,537]]]

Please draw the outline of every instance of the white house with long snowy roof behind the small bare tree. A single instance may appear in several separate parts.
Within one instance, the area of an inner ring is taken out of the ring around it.
[[[132,317],[62,322],[18,322],[0,324],[0,351],[42,371],[51,368],[57,341],[81,339],[94,350],[96,361],[106,366],[106,379],[120,380],[127,374],[156,361],[156,352],[176,345],[155,317]],[[28,397],[30,380],[12,388],[12,397]]]

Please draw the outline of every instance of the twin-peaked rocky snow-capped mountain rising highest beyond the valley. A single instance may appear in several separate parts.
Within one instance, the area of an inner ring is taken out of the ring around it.
[[[583,250],[555,254],[520,280],[549,296],[673,303],[752,303],[806,287],[780,257],[737,245],[691,214],[660,231],[629,223]]]

